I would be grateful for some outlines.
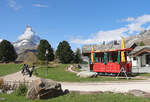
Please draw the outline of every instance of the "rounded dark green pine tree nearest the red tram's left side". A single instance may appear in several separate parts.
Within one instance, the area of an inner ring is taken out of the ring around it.
[[[67,64],[73,62],[74,53],[67,41],[62,41],[59,43],[56,50],[56,56],[61,63]]]

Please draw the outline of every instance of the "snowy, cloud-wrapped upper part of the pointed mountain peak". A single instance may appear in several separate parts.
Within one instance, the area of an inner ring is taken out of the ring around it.
[[[35,34],[31,26],[27,26],[24,33],[18,37],[18,41],[14,43],[15,47],[35,47],[40,42],[40,37]]]

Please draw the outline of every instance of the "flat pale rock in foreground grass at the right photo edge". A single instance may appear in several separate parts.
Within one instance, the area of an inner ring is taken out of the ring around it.
[[[129,90],[128,93],[134,96],[150,97],[150,93],[141,90]]]

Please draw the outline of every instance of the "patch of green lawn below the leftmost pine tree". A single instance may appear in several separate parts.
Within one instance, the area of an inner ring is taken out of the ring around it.
[[[0,64],[0,76],[15,73],[21,70],[21,64]]]

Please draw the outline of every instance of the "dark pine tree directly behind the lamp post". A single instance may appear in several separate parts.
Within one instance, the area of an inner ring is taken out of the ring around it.
[[[48,54],[46,55],[46,50],[48,50]],[[37,57],[42,61],[53,61],[54,60],[54,51],[51,45],[47,40],[41,40],[38,46],[38,54]]]

